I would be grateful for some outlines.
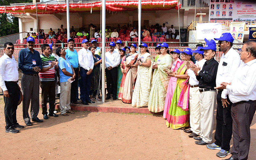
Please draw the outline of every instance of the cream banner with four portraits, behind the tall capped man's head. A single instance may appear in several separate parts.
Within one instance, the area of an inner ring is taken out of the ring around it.
[[[230,33],[234,39],[243,42],[245,22],[231,22]]]

